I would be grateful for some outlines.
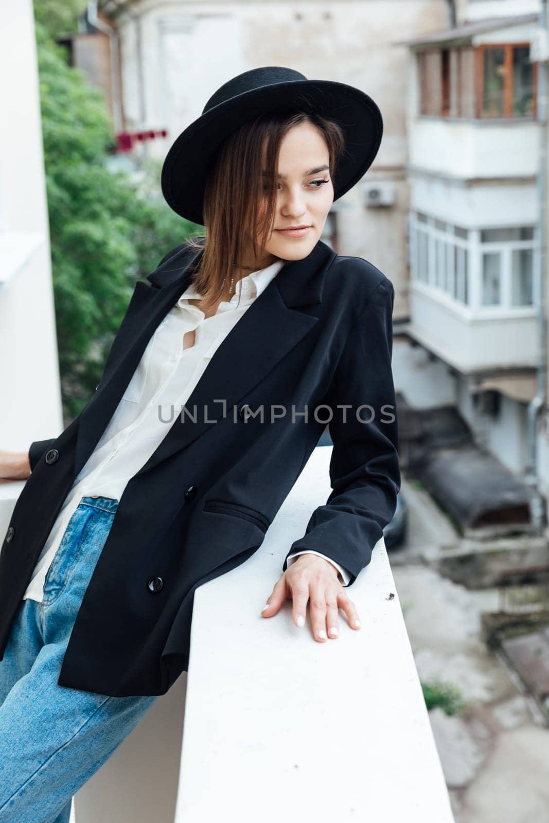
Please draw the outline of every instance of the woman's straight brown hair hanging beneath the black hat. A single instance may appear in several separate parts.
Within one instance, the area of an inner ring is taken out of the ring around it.
[[[221,145],[207,179],[204,193],[205,238],[190,238],[187,244],[203,253],[193,274],[193,285],[206,300],[205,308],[229,295],[230,277],[241,259],[246,239],[242,226],[251,227],[254,255],[263,253],[277,206],[277,160],[282,138],[298,123],[319,128],[328,146],[330,175],[345,149],[342,129],[320,114],[272,112],[244,123]],[[266,146],[263,177],[263,146]],[[263,198],[266,208],[259,209]],[[258,236],[261,235],[258,242]]]

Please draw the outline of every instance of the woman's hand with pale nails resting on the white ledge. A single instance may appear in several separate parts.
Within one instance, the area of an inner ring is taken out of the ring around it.
[[[263,617],[276,615],[288,597],[293,599],[292,617],[299,628],[305,625],[307,601],[310,598],[314,639],[319,643],[323,643],[328,637],[337,639],[338,608],[342,608],[347,614],[351,628],[361,628],[355,604],[339,582],[337,569],[323,557],[300,555],[274,585],[272,594],[267,598],[267,606],[261,612]]]

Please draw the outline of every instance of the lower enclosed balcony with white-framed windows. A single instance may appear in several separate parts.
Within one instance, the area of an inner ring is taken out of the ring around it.
[[[412,209],[407,332],[461,374],[535,368],[534,226],[457,226]]]

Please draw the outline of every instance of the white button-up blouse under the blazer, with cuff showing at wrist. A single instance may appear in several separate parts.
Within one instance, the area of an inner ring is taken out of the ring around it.
[[[201,299],[192,284],[179,297],[148,342],[109,425],[63,501],[23,600],[42,601],[49,565],[81,498],[120,500],[128,481],[147,463],[165,438],[165,421],[170,420],[170,407],[184,406],[217,346],[284,263],[284,260],[277,260],[242,277],[235,283],[235,295],[228,302],[221,302],[211,317],[205,317],[198,306],[188,302],[189,299]],[[237,305],[240,292],[242,297]],[[184,349],[184,334],[193,330],[194,345]],[[161,414],[159,406],[166,407]],[[340,582],[348,585],[349,572],[319,551],[296,551],[288,558],[288,565],[300,554],[325,557],[337,568]]]

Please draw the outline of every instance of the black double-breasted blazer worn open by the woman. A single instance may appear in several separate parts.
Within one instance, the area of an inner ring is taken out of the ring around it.
[[[201,253],[181,244],[147,277],[151,285],[137,282],[90,402],[61,435],[30,446],[32,473],[0,553],[2,656],[63,500]],[[375,266],[339,257],[320,240],[281,268],[215,351],[184,415],[175,410],[165,438],[128,481],[59,686],[165,694],[188,666],[196,588],[261,546],[331,410],[333,491],[287,554],[322,551],[354,582],[393,518],[400,488],[393,298]],[[272,421],[281,408],[286,414]],[[161,587],[149,586],[153,578]]]

